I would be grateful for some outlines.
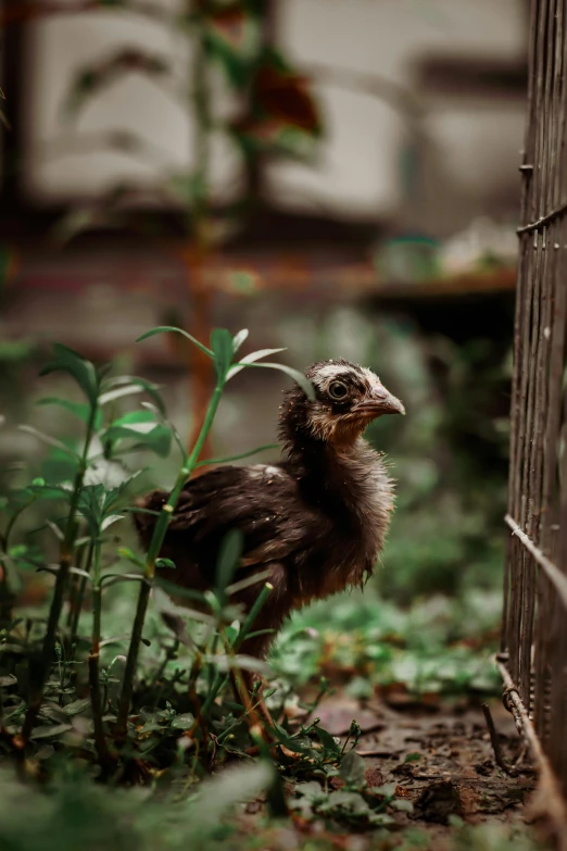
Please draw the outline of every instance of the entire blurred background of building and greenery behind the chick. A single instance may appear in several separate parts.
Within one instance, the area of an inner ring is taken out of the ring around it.
[[[163,385],[188,441],[214,376],[169,337],[136,343],[152,326],[247,327],[295,367],[357,361],[408,414],[369,433],[399,480],[377,591],[436,616],[478,599],[469,634],[493,629],[528,2],[4,0],[0,16],[1,465],[46,472],[18,423],[70,428],[34,405],[58,388],[37,378],[54,340]],[[235,379],[209,454],[273,440],[282,386]]]

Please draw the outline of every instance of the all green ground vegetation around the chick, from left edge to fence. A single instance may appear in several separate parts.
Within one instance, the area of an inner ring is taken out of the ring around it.
[[[186,334],[156,328],[144,337],[165,331]],[[231,603],[234,534],[224,541],[215,589],[184,591],[187,608],[172,602],[169,584],[154,572],[175,565],[160,562],[159,552],[184,483],[209,463],[200,452],[226,383],[244,368],[272,368],[312,392],[301,374],[265,360],[280,350],[241,356],[245,338],[224,329],[213,331],[210,346],[190,338],[213,360],[217,383],[189,452],[160,388],[147,379],[115,375],[61,345],[42,370],[68,379],[68,396],[40,403],[63,409],[80,439],[23,426],[48,453],[38,471],[14,463],[0,503],[2,849],[175,849],[191,841],[284,848],[291,825],[312,823],[331,833],[318,844],[293,841],[333,847],[349,831],[371,830],[390,847],[399,843],[391,834],[396,816],[412,803],[395,784],[368,774],[356,752],[356,718],[338,734],[320,723],[317,708],[331,678],[348,681],[362,700],[400,684],[410,698],[494,690],[487,660],[463,643],[466,618],[486,613],[488,598],[465,609],[441,602],[444,614],[434,600],[404,614],[371,592],[364,602],[340,598],[325,612],[295,617],[267,665],[239,652],[269,587],[248,615]],[[171,452],[178,453],[178,473],[141,553],[128,516],[151,478],[140,453],[160,460]],[[39,605],[22,604],[20,591],[37,574],[49,593]],[[187,622],[185,636],[165,627],[164,614]],[[486,630],[491,626],[489,615]],[[269,681],[272,724],[257,711],[257,690],[244,687],[247,669]],[[227,814],[259,793],[254,838]],[[284,834],[268,840],[274,825]]]

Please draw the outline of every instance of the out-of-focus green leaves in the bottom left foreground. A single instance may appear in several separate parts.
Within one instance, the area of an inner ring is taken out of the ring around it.
[[[53,759],[49,749],[43,746],[43,760]],[[260,762],[203,783],[198,793],[180,783],[164,793],[160,788],[109,790],[78,765],[59,767],[49,794],[15,784],[11,773],[0,771],[0,847],[5,851],[225,848],[236,833],[226,815],[273,776],[272,766]]]

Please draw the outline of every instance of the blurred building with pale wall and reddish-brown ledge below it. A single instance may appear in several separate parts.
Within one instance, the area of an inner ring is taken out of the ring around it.
[[[226,132],[211,133],[213,203],[223,209],[252,182],[261,204],[205,276],[188,259],[181,201],[160,195],[173,180],[190,183],[196,161],[193,48],[172,24],[185,5],[65,11],[76,5],[61,0],[49,15],[37,4],[27,14],[25,0],[3,5],[11,126],[2,132],[0,227],[16,260],[4,264],[3,335],[165,365],[185,355],[162,340],[134,355],[131,343],[166,321],[201,336],[214,323],[249,325],[257,345],[278,345],[275,317],[303,311],[316,326],[326,306],[362,298],[446,330],[454,314],[431,311],[431,295],[511,297],[525,0],[266,0],[262,38],[311,79],[323,138],[307,159],[259,157],[251,175]],[[129,57],[127,73],[113,72],[113,57]],[[218,68],[209,85],[215,121],[241,113]],[[72,118],[77,91],[85,98]],[[136,189],[126,208],[141,229],[110,226],[97,207],[125,187]],[[445,248],[479,216],[480,236],[477,228]],[[496,225],[503,236],[490,236]],[[504,258],[477,274],[476,254],[492,258],[511,239]],[[439,246],[442,263],[431,263]]]

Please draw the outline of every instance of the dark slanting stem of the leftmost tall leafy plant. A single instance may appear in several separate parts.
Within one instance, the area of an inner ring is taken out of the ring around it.
[[[49,620],[43,639],[43,647],[41,649],[41,656],[30,664],[30,681],[33,685],[32,698],[29,706],[26,712],[24,726],[22,728],[22,744],[25,747],[29,740],[29,736],[36,723],[36,718],[41,709],[41,701],[43,700],[43,691],[46,687],[46,680],[49,676],[51,668],[51,662],[53,659],[53,652],[55,649],[55,640],[59,621],[61,617],[61,611],[63,609],[63,602],[65,600],[65,589],[67,586],[71,563],[73,561],[73,545],[77,533],[77,506],[83,489],[83,481],[85,479],[85,473],[87,470],[87,459],[89,454],[90,441],[94,433],[94,422],[97,418],[98,403],[91,405],[89,421],[87,424],[87,433],[85,435],[85,446],[83,448],[83,454],[80,456],[79,465],[75,474],[75,480],[73,483],[73,493],[71,497],[71,503],[68,509],[68,517],[65,526],[65,533],[63,541],[61,543],[61,555],[59,563],[59,571],[55,578],[55,587],[53,589],[53,598],[51,600],[51,608],[49,610]]]

